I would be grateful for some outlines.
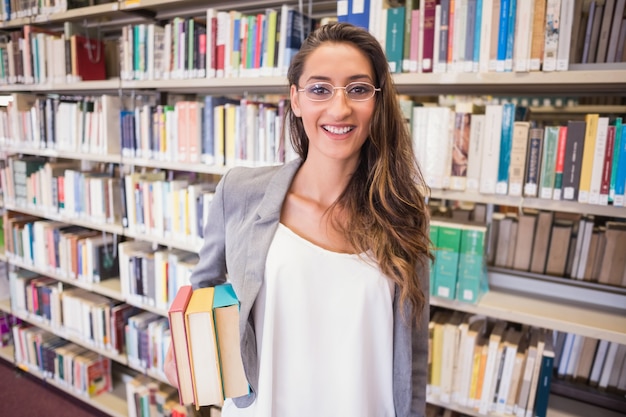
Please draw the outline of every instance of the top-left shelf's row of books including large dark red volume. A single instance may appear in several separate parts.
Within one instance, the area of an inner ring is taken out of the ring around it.
[[[208,8],[123,26],[113,42],[73,22],[63,31],[27,24],[0,42],[0,83],[286,75],[313,22],[288,5],[250,15]]]

